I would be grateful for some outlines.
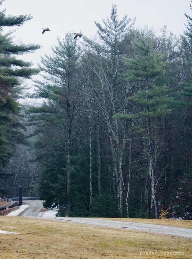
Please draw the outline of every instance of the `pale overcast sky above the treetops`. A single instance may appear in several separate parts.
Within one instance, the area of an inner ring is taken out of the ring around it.
[[[5,0],[1,9],[6,9],[6,14],[33,16],[13,35],[15,41],[42,46],[35,54],[23,56],[37,64],[40,56],[51,54],[51,46],[57,45],[57,36],[63,39],[68,31],[82,31],[86,37],[94,37],[97,33],[94,21],[102,23],[103,18],[109,17],[112,4],[117,4],[119,20],[126,14],[131,19],[136,17],[135,27],[148,25],[157,31],[167,24],[168,31],[175,35],[183,34],[187,23],[185,13],[192,17],[191,0]],[[42,34],[41,28],[46,27],[51,31]]]

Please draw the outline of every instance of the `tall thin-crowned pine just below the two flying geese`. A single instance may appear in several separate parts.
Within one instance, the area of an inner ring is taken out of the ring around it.
[[[46,102],[40,107],[33,107],[29,113],[32,121],[43,124],[45,131],[53,131],[57,134],[60,144],[63,147],[63,156],[66,160],[65,179],[65,215],[69,216],[71,209],[71,140],[73,135],[73,123],[76,114],[76,102],[79,91],[76,85],[76,69],[78,68],[78,48],[74,41],[73,32],[66,33],[65,39],[58,38],[58,46],[52,49],[53,56],[42,58],[43,70],[46,72],[45,81],[37,82],[34,98],[45,98]],[[41,132],[39,128],[37,132]],[[46,145],[46,143],[45,143]],[[43,182],[41,182],[43,183]],[[63,183],[61,183],[63,186]],[[42,188],[46,188],[43,184]],[[58,186],[59,188],[59,186]],[[42,192],[46,193],[46,192]],[[63,192],[62,192],[63,194]],[[60,195],[62,195],[60,193]],[[46,195],[41,196],[45,201]],[[45,204],[47,204],[45,202]],[[62,209],[63,204],[60,204]]]

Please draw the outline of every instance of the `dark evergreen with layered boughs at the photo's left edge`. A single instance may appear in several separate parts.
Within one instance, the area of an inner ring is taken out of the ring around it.
[[[3,0],[0,1],[0,5]],[[0,166],[5,166],[14,152],[14,145],[22,141],[25,129],[19,120],[20,105],[18,98],[22,93],[22,79],[31,78],[39,72],[31,68],[30,62],[18,59],[16,55],[33,52],[40,48],[35,44],[14,44],[11,32],[3,34],[5,26],[21,26],[32,19],[30,15],[6,16],[5,10],[0,12]],[[7,176],[7,175],[6,175]],[[4,176],[5,177],[5,176]]]

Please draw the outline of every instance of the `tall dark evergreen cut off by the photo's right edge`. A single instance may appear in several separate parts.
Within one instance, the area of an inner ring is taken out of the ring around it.
[[[192,2],[192,1],[191,1]],[[192,10],[192,5],[190,5]],[[181,35],[180,54],[182,67],[179,90],[175,95],[178,103],[178,134],[174,155],[178,163],[174,166],[175,171],[175,198],[172,213],[176,213],[183,219],[191,219],[192,207],[192,175],[191,175],[191,152],[192,152],[192,18],[187,18],[186,30]],[[182,145],[181,145],[182,143]],[[179,152],[177,152],[179,150]]]

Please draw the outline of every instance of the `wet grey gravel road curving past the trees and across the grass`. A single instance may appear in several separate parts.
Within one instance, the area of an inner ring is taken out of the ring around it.
[[[47,216],[43,217],[43,213],[41,213],[43,209],[41,200],[23,201],[23,205],[25,204],[28,204],[29,207],[22,212],[21,216],[32,216],[32,217],[44,218],[47,220],[50,220],[50,219],[60,220],[62,222],[69,221],[74,223],[90,224],[90,225],[97,225],[102,227],[123,228],[127,230],[155,232],[160,234],[168,234],[172,236],[186,237],[186,238],[192,239],[192,229],[155,225],[155,224],[113,221],[113,220],[97,219],[97,218],[65,218],[65,217],[47,217]]]

